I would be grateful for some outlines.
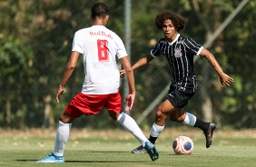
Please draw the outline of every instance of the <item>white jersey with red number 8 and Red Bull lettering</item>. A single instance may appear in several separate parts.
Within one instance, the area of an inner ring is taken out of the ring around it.
[[[120,74],[115,56],[127,56],[121,38],[103,25],[93,25],[74,34],[73,49],[83,54],[84,83],[82,93],[117,93]]]

